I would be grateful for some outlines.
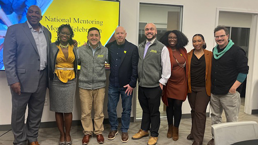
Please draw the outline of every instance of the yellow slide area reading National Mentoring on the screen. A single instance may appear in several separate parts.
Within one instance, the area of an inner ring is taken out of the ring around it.
[[[119,24],[119,2],[101,0],[53,0],[40,23],[52,33],[52,42],[57,39],[57,28],[69,23],[74,38],[81,46],[87,42],[88,29],[100,29],[101,43],[107,44]]]

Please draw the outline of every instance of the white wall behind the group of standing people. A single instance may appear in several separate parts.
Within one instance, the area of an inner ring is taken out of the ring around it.
[[[207,43],[207,50],[212,50],[215,46],[213,30],[215,28],[216,8],[235,8],[235,9],[249,9],[258,11],[258,1],[246,0],[121,0],[120,5],[120,25],[127,30],[127,40],[138,44],[138,2],[146,3],[161,3],[172,5],[183,5],[183,26],[182,31],[190,40],[187,51],[193,47],[191,44],[192,36],[196,33],[201,33],[205,37]],[[151,17],[147,15],[146,17]],[[258,37],[256,37],[256,47],[258,45]],[[254,51],[254,55],[258,56],[258,51]],[[258,57],[255,57],[255,63],[258,62]],[[251,95],[254,96],[252,109],[258,109],[258,65],[252,68],[254,75],[251,81]],[[76,98],[77,99],[77,98]],[[133,106],[133,105],[132,105]],[[73,119],[80,119],[80,104],[76,101]],[[120,110],[121,111],[121,110]],[[133,112],[133,110],[132,110]],[[105,112],[106,113],[106,112]],[[183,103],[183,113],[190,113],[188,102]],[[118,113],[120,114],[120,113]],[[42,121],[54,121],[53,112],[49,111],[48,107],[44,108]],[[6,75],[4,71],[0,71],[0,125],[11,123],[11,94],[7,86]]]

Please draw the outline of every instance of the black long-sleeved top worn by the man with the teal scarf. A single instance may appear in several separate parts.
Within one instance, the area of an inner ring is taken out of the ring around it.
[[[217,49],[218,52],[221,52],[225,48],[220,49],[219,46],[217,46]],[[239,73],[248,74],[249,66],[247,65],[247,61],[248,58],[245,55],[245,51],[237,45],[233,45],[218,60],[213,56],[211,67],[211,93],[215,95],[227,94]]]

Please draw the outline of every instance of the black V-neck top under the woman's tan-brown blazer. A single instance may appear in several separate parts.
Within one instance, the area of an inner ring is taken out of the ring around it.
[[[193,54],[191,59],[191,86],[205,87],[205,57],[198,59]]]

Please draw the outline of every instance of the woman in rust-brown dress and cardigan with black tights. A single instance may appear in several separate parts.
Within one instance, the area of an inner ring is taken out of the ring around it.
[[[168,132],[167,137],[178,139],[178,127],[182,116],[182,103],[187,94],[188,64],[184,46],[187,45],[187,37],[178,30],[168,31],[160,42],[165,44],[169,51],[171,63],[171,76],[162,91],[162,101],[167,106]],[[174,117],[174,126],[173,126]]]

